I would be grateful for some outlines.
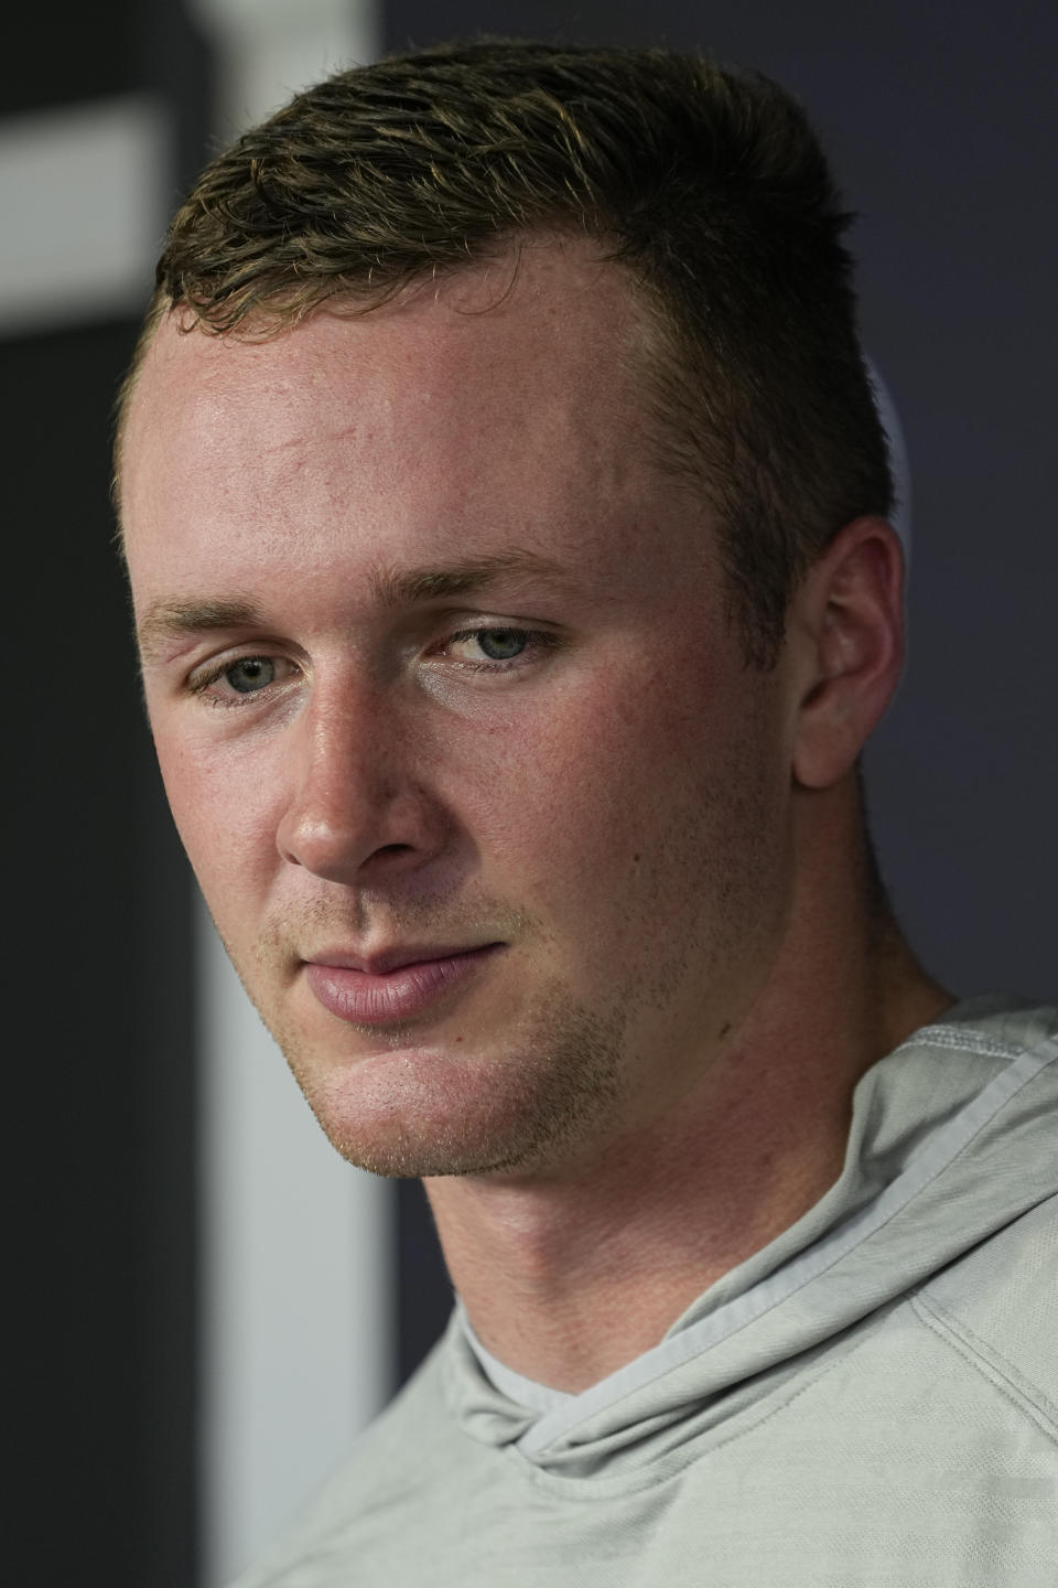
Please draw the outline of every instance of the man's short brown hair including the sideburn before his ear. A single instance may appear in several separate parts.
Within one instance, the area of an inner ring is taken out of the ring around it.
[[[728,610],[766,669],[833,535],[893,505],[850,219],[804,111],[760,73],[508,40],[338,71],[217,156],[178,211],[116,451],[170,310],[268,337],[527,233],[598,240],[647,305],[660,456],[714,510]]]

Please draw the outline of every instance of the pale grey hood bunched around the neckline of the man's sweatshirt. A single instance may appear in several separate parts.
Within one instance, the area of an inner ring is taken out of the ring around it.
[[[866,1323],[1058,1191],[1058,1012],[969,999],[872,1066],[841,1177],[700,1296],[665,1339],[546,1410],[503,1393],[457,1305],[450,1412],[481,1443],[565,1478],[630,1477],[723,1437],[784,1380],[853,1350]]]

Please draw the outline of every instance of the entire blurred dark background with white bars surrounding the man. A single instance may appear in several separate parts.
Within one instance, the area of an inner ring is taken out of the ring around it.
[[[703,48],[809,108],[914,488],[882,867],[956,992],[1052,996],[1058,13],[922,0],[46,0],[0,52],[11,1582],[220,1588],[450,1307],[416,1185],[343,1166],[216,948],[111,548],[111,403],[208,152],[327,71],[477,32]],[[14,842],[17,838],[17,842]]]

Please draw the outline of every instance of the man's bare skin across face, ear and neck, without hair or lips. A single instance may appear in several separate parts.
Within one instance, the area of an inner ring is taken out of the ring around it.
[[[646,445],[623,273],[557,243],[473,294],[257,343],[163,322],[125,543],[243,985],[338,1150],[427,1178],[484,1343],[579,1388],[833,1183],[855,1081],[949,999],[861,886],[888,526],[847,526],[747,667],[711,516]],[[404,945],[503,946],[408,1019],[320,1000],[314,967]]]

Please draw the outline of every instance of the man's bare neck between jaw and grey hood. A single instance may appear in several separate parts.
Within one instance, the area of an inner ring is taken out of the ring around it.
[[[574,1167],[428,1180],[485,1348],[576,1393],[657,1345],[834,1183],[857,1081],[950,1004],[893,924],[801,913],[787,964],[679,1108]]]

